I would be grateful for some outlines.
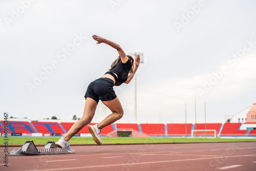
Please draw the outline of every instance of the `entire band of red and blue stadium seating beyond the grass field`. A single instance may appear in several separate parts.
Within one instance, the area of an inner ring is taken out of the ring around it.
[[[74,121],[75,122],[75,121]],[[8,121],[8,131],[9,134],[22,134],[25,136],[31,136],[33,133],[41,133],[42,136],[52,136],[53,134],[58,134],[63,136],[67,133],[74,122],[38,122],[38,121]],[[90,123],[94,125],[95,123]],[[252,124],[252,123],[250,123]],[[4,133],[4,120],[1,120],[0,131],[1,134]],[[221,128],[221,123],[207,123],[206,130],[216,130],[216,134],[219,133]],[[224,123],[220,136],[248,136],[255,137],[256,130],[240,130],[241,123]],[[184,123],[168,123],[168,124],[157,124],[157,123],[114,123],[113,125],[108,125],[102,129],[101,136],[106,136],[117,129],[130,129],[140,132],[148,136],[168,136],[168,137],[184,137],[186,135],[185,124]],[[191,130],[205,130],[204,123],[197,123],[194,126],[191,123],[187,124],[187,136],[191,136]],[[78,134],[89,134],[88,125],[83,127]],[[194,132],[197,136],[205,136],[205,132]],[[213,136],[214,132],[207,132],[207,136]]]

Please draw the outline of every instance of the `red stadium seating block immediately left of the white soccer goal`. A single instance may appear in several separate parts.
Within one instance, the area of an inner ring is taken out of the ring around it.
[[[191,136],[192,123],[187,124],[187,136]],[[167,124],[168,136],[186,136],[185,123],[168,123]]]

